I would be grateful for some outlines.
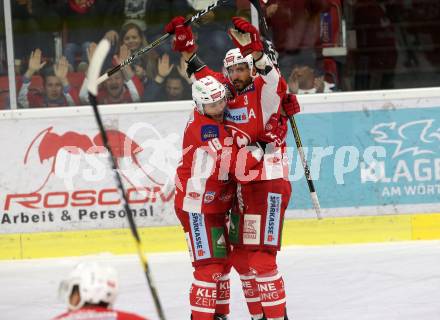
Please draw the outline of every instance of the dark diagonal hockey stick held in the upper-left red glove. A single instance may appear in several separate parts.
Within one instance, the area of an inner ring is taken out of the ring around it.
[[[214,2],[213,4],[211,4],[210,6],[208,6],[206,9],[201,10],[199,12],[197,12],[195,15],[193,15],[191,18],[188,18],[185,22],[184,25],[190,25],[193,22],[199,20],[201,17],[203,17],[205,14],[207,14],[208,12],[211,12],[212,10],[216,9],[217,7],[219,7],[220,5],[222,5],[224,2],[224,0],[218,0],[216,2]],[[133,55],[131,55],[130,57],[128,57],[127,59],[125,59],[124,61],[122,61],[119,65],[117,65],[116,67],[112,68],[110,71],[108,71],[107,73],[103,74],[102,76],[100,76],[97,80],[97,84],[101,84],[103,83],[105,80],[107,80],[112,74],[118,72],[119,70],[121,70],[123,67],[125,67],[126,65],[131,64],[134,60],[136,60],[139,56],[147,53],[148,51],[151,51],[152,49],[154,49],[155,47],[157,47],[158,45],[160,45],[162,42],[164,42],[166,39],[168,39],[168,37],[171,36],[171,33],[165,33],[164,35],[162,35],[160,38],[154,40],[152,43],[150,43],[148,46],[143,47],[142,49],[139,49],[138,51],[136,51]]]

